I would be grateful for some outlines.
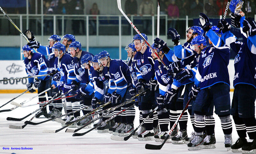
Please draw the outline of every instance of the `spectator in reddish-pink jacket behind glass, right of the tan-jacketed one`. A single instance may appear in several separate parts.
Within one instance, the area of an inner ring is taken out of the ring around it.
[[[175,4],[175,0],[171,0],[171,3],[168,6],[168,17],[170,17],[172,20],[169,23],[169,28],[176,28],[176,21],[179,19],[179,8]]]

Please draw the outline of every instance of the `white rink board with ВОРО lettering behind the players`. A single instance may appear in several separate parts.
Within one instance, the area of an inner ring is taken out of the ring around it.
[[[25,64],[23,60],[0,60],[0,79],[3,78],[14,78],[14,77],[25,77],[27,76],[25,71]],[[228,65],[230,88],[233,89],[233,78],[235,74],[234,60],[229,60]],[[1,89],[26,89],[28,79],[18,79],[12,81],[1,81]]]

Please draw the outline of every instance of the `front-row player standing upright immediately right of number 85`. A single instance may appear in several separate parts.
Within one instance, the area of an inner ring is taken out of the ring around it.
[[[73,67],[74,67],[74,73],[76,75],[76,78],[78,80],[73,80],[71,83],[71,87],[74,91],[76,91],[78,88],[82,88],[82,87],[86,87],[87,84],[89,84],[90,81],[90,76],[91,76],[91,71],[90,71],[90,65],[88,66],[88,68],[84,68],[84,65],[82,65],[83,63],[90,63],[90,61],[92,60],[92,54],[88,53],[86,51],[82,51],[82,46],[81,43],[79,41],[75,41],[72,42],[69,45],[69,51],[72,57],[74,57],[73,59]],[[82,61],[82,57],[84,55],[87,55],[84,57],[84,61],[83,63],[81,63]],[[83,68],[82,68],[83,67]],[[78,81],[78,82],[77,82]],[[92,102],[92,95],[86,95],[83,98],[83,108],[90,106]],[[80,102],[82,103],[82,102]],[[81,105],[82,106],[82,105]],[[83,114],[86,115],[87,113],[89,113],[91,111],[92,108],[86,108],[83,110]],[[77,123],[77,126],[82,126],[85,123],[87,123],[90,119],[85,118],[83,120],[81,120],[80,122]],[[90,126],[89,126],[90,127]]]

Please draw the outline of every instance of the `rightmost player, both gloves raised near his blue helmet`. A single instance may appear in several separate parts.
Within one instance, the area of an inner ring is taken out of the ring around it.
[[[239,23],[243,27],[241,31],[243,40],[238,41],[237,38],[229,31],[231,29],[230,24],[224,19],[219,21],[218,26],[222,29],[223,35],[221,39],[229,46],[233,51],[237,53],[235,57],[235,76],[233,80],[234,94],[231,105],[231,115],[236,125],[236,131],[239,136],[236,143],[231,146],[232,152],[249,153],[249,151],[256,150],[256,120],[255,120],[255,99],[256,99],[256,53],[255,45],[252,41],[255,41],[255,33],[246,34],[247,31],[255,30],[256,23],[253,19],[245,19],[244,12],[241,8],[243,2],[232,0],[230,2],[230,10],[235,13],[239,18],[233,20],[233,23]],[[237,11],[238,9],[238,11]],[[237,21],[238,20],[238,21]],[[240,26],[239,25],[239,26]],[[247,39],[248,37],[248,39]],[[249,141],[246,140],[246,132],[249,136]]]

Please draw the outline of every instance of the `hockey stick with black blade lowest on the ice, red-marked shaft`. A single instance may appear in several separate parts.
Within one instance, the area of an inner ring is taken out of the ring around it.
[[[187,105],[185,106],[185,108],[182,110],[182,112],[180,113],[179,117],[177,118],[177,120],[174,122],[171,130],[169,131],[169,134],[165,137],[164,142],[160,145],[154,145],[154,144],[146,144],[145,148],[149,149],[149,150],[160,150],[163,146],[164,143],[167,141],[167,139],[169,138],[170,134],[172,133],[173,129],[176,127],[177,123],[179,122],[181,116],[184,114],[184,112],[187,110],[189,103],[191,102],[192,97],[188,100]]]

